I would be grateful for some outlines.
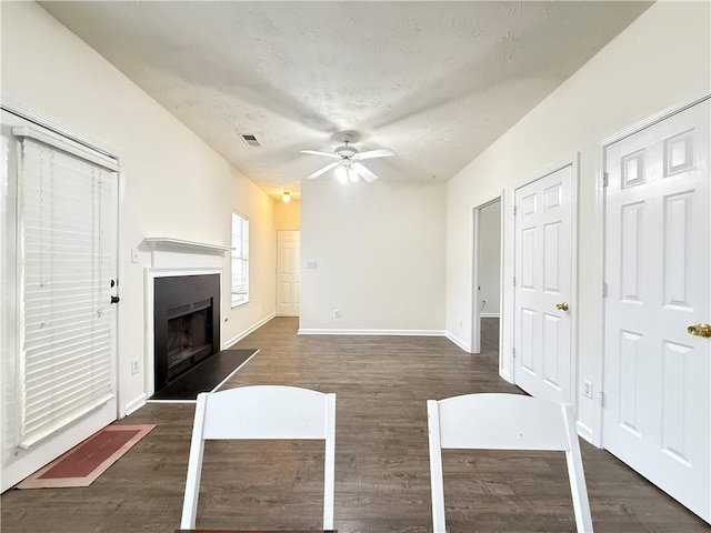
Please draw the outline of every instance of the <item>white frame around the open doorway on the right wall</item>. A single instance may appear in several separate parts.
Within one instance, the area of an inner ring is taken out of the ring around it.
[[[500,223],[501,229],[499,231],[499,354],[503,353],[503,335],[501,334],[501,323],[503,316],[503,193],[501,190],[495,194],[489,197],[487,200],[480,202],[478,205],[472,208],[472,264],[471,264],[471,312],[469,315],[471,316],[471,328],[470,328],[470,339],[469,346],[470,353],[481,353],[481,312],[479,310],[479,259],[480,259],[480,250],[479,250],[479,230],[480,230],[480,213],[481,210],[492,203],[499,201],[501,202],[500,210]]]

